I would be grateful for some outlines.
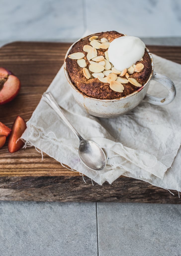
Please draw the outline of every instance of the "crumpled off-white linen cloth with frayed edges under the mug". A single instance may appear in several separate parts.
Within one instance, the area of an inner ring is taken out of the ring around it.
[[[176,86],[176,98],[166,106],[142,101],[134,110],[117,118],[91,116],[74,100],[63,67],[47,89],[81,136],[104,149],[107,156],[104,170],[96,172],[84,166],[79,159],[76,136],[43,99],[21,137],[25,147],[35,146],[100,185],[105,181],[111,184],[124,175],[181,191],[181,65],[156,55],[153,59],[154,70],[168,76]],[[166,89],[151,81],[148,93],[163,97]]]

